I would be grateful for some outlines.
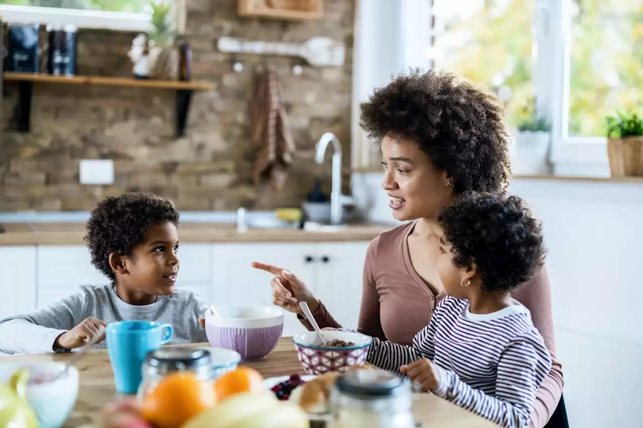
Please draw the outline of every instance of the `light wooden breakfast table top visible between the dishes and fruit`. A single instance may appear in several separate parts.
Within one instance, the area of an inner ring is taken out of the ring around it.
[[[175,346],[209,346],[209,344],[190,344]],[[71,353],[41,355],[11,355],[1,362],[66,361]],[[244,366],[257,369],[264,377],[305,374],[297,359],[293,342],[284,337],[266,359],[242,362]],[[114,388],[114,374],[106,350],[89,351],[77,364],[80,372],[78,400],[64,427],[91,426],[106,402],[122,398]],[[422,394],[413,403],[415,419],[424,428],[491,428],[497,425],[473,415],[460,407],[435,397]]]

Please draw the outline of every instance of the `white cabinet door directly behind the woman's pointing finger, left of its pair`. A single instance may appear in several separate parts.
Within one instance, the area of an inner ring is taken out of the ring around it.
[[[314,287],[312,263],[314,244],[244,243],[215,244],[213,247],[213,296],[215,305],[272,305],[270,280],[273,275],[258,271],[251,262],[271,263],[288,269]],[[286,313],[284,336],[304,332],[294,314]]]

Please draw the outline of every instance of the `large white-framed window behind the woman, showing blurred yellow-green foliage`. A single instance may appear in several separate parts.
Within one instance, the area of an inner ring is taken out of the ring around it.
[[[606,116],[643,109],[643,0],[426,1],[431,67],[487,85],[509,125],[535,106],[555,173],[608,174]]]

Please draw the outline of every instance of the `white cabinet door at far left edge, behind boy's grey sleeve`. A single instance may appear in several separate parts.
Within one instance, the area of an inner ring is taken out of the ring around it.
[[[36,308],[36,248],[0,247],[0,278],[3,298],[0,319],[31,312]]]

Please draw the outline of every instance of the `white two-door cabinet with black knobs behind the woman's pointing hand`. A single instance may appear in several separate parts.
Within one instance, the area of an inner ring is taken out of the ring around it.
[[[273,275],[250,267],[253,261],[292,271],[320,298],[332,316],[356,328],[362,272],[369,242],[214,245],[215,305],[272,305]],[[294,314],[286,314],[284,335],[305,329]]]

